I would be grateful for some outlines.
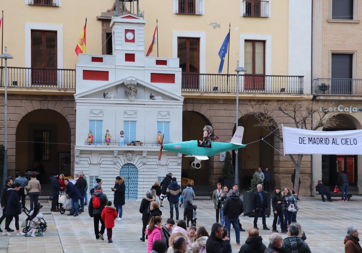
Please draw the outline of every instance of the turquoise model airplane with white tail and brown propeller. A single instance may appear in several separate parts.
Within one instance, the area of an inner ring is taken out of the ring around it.
[[[237,150],[245,147],[241,144],[243,140],[244,127],[237,127],[235,134],[230,142],[211,142],[211,147],[199,147],[197,141],[183,141],[177,143],[170,143],[163,145],[163,137],[158,159],[161,160],[162,150],[171,151],[174,153],[185,154],[185,157],[194,157],[194,162],[191,166],[194,168],[201,168],[201,161],[209,159],[213,156],[228,150]]]

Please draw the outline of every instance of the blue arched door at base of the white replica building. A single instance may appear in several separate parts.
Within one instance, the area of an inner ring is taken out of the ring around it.
[[[137,200],[138,197],[138,170],[133,163],[126,163],[119,171],[119,176],[125,178],[126,200]]]

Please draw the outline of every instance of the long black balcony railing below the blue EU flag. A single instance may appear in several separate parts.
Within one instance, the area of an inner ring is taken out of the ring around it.
[[[239,93],[303,94],[304,76],[240,75]],[[236,74],[182,73],[182,92],[236,93]]]

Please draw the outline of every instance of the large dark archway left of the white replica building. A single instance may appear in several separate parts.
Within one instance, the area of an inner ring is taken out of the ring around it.
[[[15,171],[38,171],[38,179],[49,183],[54,171],[71,175],[71,129],[53,110],[26,114],[16,128]]]

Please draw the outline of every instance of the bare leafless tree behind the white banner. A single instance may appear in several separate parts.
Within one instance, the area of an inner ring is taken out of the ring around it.
[[[338,120],[334,113],[329,111],[335,102],[318,102],[314,100],[296,100],[292,102],[271,101],[271,102],[252,102],[246,111],[253,115],[257,123],[256,127],[262,127],[266,130],[273,131],[275,137],[283,141],[280,131],[275,131],[279,126],[273,116],[275,112],[281,112],[292,120],[296,128],[317,130],[323,128],[334,128],[338,125]],[[298,154],[298,159],[289,154],[295,167],[294,185],[299,184],[300,164],[302,163],[303,154]]]

